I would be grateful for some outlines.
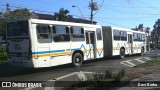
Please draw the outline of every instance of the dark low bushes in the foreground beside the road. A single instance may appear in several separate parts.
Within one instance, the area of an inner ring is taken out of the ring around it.
[[[112,81],[119,82],[121,81],[122,77],[125,75],[125,70],[119,71],[112,71],[112,70],[105,70],[105,71],[98,71],[93,73],[92,79],[87,78],[86,81],[79,81],[77,84],[72,85],[74,90],[85,90],[85,87],[104,87],[106,85],[110,85]],[[108,83],[105,81],[109,81]],[[111,82],[110,82],[111,81]]]

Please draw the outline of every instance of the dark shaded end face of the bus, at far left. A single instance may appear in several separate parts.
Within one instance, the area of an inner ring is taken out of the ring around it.
[[[7,53],[10,65],[33,67],[28,20],[7,24]]]

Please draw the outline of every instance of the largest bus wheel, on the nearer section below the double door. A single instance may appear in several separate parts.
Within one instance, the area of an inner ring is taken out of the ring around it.
[[[80,67],[83,63],[83,57],[80,53],[74,54],[72,58],[72,64],[74,67]]]

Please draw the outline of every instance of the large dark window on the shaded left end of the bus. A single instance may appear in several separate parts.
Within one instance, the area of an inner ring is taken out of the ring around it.
[[[7,24],[7,37],[28,36],[28,22],[17,21]]]

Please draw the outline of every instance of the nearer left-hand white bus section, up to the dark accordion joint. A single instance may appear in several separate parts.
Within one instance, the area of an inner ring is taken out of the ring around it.
[[[51,67],[103,57],[99,25],[28,19],[7,25],[8,60],[11,65]]]

